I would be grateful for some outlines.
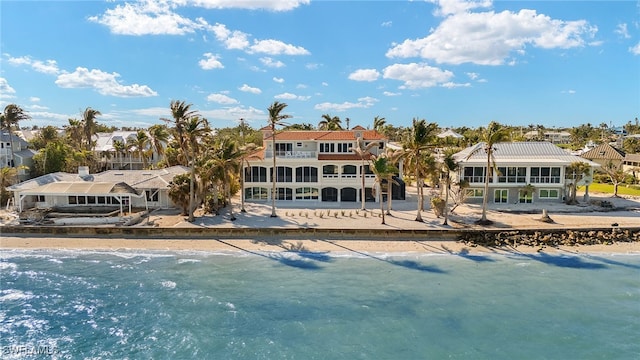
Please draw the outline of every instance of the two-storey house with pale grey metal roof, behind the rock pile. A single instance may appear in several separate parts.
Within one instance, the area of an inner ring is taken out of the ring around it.
[[[482,202],[484,197],[487,174],[487,154],[482,150],[484,146],[485,143],[479,143],[455,154],[459,162],[456,180],[464,180],[469,184],[468,202]],[[578,180],[578,186],[589,185],[593,169],[600,167],[546,141],[498,143],[494,145],[494,150],[498,171],[492,171],[489,178],[489,203],[561,202],[574,179]],[[591,166],[589,176],[581,178],[568,173],[567,166],[577,161]]]

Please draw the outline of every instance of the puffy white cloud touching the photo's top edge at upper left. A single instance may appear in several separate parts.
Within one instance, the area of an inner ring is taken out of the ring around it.
[[[119,35],[184,35],[202,27],[202,23],[184,18],[175,12],[175,3],[141,0],[118,4],[89,21],[108,27]]]

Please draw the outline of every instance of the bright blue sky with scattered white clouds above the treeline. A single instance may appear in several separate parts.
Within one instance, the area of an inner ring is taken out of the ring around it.
[[[637,1],[0,0],[0,102],[63,126],[620,126],[640,116]]]

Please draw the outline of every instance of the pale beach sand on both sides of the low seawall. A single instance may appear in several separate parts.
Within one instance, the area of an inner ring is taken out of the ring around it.
[[[594,211],[590,206],[567,206],[564,204],[546,204],[545,209],[553,223],[543,223],[540,205],[511,204],[492,206],[488,218],[494,224],[487,229],[546,229],[546,228],[606,228],[640,226],[640,200],[629,198],[597,197],[592,199],[607,200],[614,203],[620,211]],[[278,217],[270,217],[271,207],[266,203],[247,203],[246,212],[240,212],[240,204],[234,204],[235,221],[227,211],[220,215],[196,213],[193,223],[176,211],[163,210],[151,214],[149,221],[136,226],[156,226],[165,228],[181,227],[214,227],[214,228],[325,228],[325,229],[460,229],[481,228],[475,225],[480,218],[479,204],[463,204],[450,217],[449,224],[443,225],[443,219],[434,215],[433,211],[422,212],[423,221],[417,222],[415,201],[394,201],[391,216],[385,217],[382,224],[378,204],[367,204],[367,211],[354,208],[331,208],[331,204],[314,203],[313,208],[301,207],[297,204],[279,204]],[[333,204],[335,206],[335,204]],[[318,206],[325,206],[320,208]],[[518,246],[517,248],[485,248],[471,247],[456,241],[415,241],[371,239],[147,239],[147,238],[112,238],[112,237],[38,237],[32,235],[12,235],[2,232],[0,227],[0,247],[3,249],[96,249],[96,250],[192,250],[192,251],[303,251],[318,253],[505,253],[505,252],[554,252],[554,253],[617,253],[640,254],[640,243],[614,243],[612,245],[590,245],[558,248],[539,248]]]

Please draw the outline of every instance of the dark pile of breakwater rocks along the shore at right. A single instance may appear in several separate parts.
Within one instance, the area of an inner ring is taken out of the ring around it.
[[[460,234],[458,241],[486,247],[611,245],[615,242],[640,242],[640,228],[470,231]]]

